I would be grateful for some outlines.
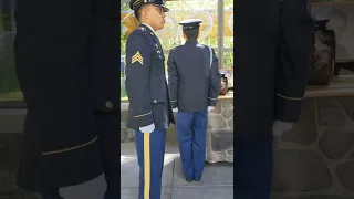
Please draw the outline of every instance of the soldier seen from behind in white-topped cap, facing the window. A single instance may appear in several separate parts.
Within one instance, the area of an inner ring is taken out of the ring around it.
[[[177,135],[187,181],[199,181],[206,159],[208,112],[220,90],[218,59],[214,50],[198,43],[199,19],[181,21],[184,45],[168,56],[168,87],[177,113]]]

